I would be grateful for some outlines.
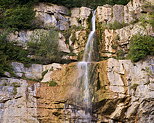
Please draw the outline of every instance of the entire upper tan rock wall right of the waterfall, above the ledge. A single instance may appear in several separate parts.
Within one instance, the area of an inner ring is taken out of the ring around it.
[[[153,10],[145,9],[145,6],[152,8],[153,3],[133,0],[125,6],[104,5],[97,7],[96,23],[100,57],[116,57],[119,51],[126,55],[133,35],[154,35],[152,25],[139,21],[141,17],[145,16],[145,13],[148,15],[149,12],[153,12]],[[121,23],[120,29],[114,28],[118,25],[117,23]],[[111,24],[113,27],[110,28]]]

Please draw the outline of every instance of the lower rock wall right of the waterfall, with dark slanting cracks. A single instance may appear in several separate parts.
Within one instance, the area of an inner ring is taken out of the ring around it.
[[[98,111],[102,112],[104,121],[110,117],[128,123],[153,122],[153,64],[153,57],[135,64],[115,59],[109,59],[107,67],[100,63],[101,88],[97,93],[102,107],[98,107]],[[151,71],[150,75],[147,69]]]

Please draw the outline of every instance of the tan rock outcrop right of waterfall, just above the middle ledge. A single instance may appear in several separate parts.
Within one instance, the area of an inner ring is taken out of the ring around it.
[[[114,56],[118,50],[128,51],[130,39],[134,35],[153,35],[153,28],[151,25],[143,27],[141,23],[129,25],[121,29],[105,29],[102,33],[102,41],[100,42],[101,56]]]

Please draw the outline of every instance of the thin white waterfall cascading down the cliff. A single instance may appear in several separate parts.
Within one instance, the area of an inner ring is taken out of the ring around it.
[[[79,82],[83,83],[83,107],[85,109],[85,114],[83,118],[85,119],[84,122],[90,123],[91,122],[91,110],[92,110],[92,103],[91,103],[91,94],[90,94],[90,62],[93,61],[92,54],[93,54],[93,42],[94,42],[94,35],[95,35],[95,11],[93,12],[92,16],[92,31],[88,36],[88,40],[85,46],[85,51],[83,55],[83,59],[81,62],[78,63],[78,70],[79,70]]]

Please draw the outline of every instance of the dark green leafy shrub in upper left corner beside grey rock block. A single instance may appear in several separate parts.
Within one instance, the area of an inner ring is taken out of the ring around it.
[[[35,12],[26,6],[7,9],[3,16],[4,28],[30,29],[34,25]]]

